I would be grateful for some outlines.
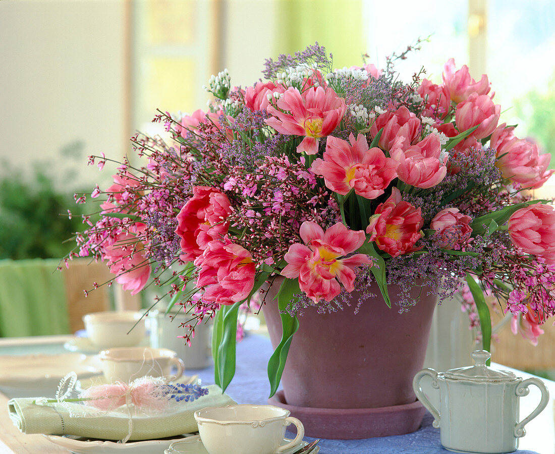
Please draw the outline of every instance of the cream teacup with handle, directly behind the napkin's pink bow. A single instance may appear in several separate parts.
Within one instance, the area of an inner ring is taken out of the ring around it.
[[[139,377],[171,377],[171,367],[177,367],[175,376],[183,375],[185,366],[175,351],[151,347],[117,347],[103,350],[98,355],[104,379],[131,382]]]

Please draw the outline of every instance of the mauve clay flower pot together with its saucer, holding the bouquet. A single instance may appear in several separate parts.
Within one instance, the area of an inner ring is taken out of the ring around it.
[[[263,307],[274,348],[281,340],[278,290],[275,283]],[[332,314],[309,307],[299,317],[281,379],[284,390],[271,403],[286,405],[309,436],[366,438],[420,427],[424,411],[412,379],[422,369],[437,298],[423,289],[418,304],[399,314],[397,286],[389,287],[391,309],[377,285],[370,291],[379,296],[362,302],[358,314],[354,306]],[[353,292],[353,301],[357,297]],[[346,418],[345,424],[338,418]]]

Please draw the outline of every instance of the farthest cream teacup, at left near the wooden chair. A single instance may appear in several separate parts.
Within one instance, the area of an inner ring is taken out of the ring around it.
[[[90,342],[99,349],[132,347],[145,338],[142,314],[134,311],[93,312],[83,316]]]

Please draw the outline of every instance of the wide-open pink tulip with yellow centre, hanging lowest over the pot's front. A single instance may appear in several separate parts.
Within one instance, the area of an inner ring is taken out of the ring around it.
[[[281,271],[286,278],[299,278],[299,286],[312,301],[322,298],[331,301],[341,291],[337,279],[348,292],[354,290],[355,268],[372,263],[365,254],[339,259],[360,248],[366,239],[364,231],[349,230],[344,224],[332,225],[324,230],[310,221],[300,228],[302,241],[295,243],[285,254],[287,265]]]

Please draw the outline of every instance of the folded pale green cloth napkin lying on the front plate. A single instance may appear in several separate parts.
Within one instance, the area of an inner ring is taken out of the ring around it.
[[[194,412],[204,407],[220,407],[235,403],[216,385],[209,385],[208,394],[193,402],[181,401],[159,414],[133,416],[133,432],[129,440],[155,440],[181,433],[196,432]],[[8,401],[9,416],[24,433],[47,435],[77,435],[103,440],[123,440],[129,433],[129,413],[125,410],[102,412],[76,403],[37,405],[36,397],[14,398]],[[70,415],[87,412],[87,416]]]

